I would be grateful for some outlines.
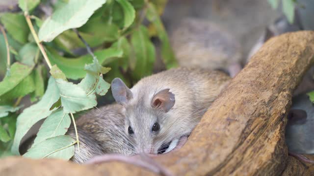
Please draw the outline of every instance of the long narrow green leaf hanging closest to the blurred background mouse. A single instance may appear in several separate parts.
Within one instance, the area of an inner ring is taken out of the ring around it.
[[[167,69],[172,68],[172,67],[177,67],[178,63],[177,63],[175,54],[172,50],[172,47],[170,45],[167,32],[160,20],[160,17],[157,13],[157,10],[154,4],[152,3],[149,3],[148,5],[147,19],[154,24],[157,30],[158,38],[160,39],[162,43],[161,57]]]

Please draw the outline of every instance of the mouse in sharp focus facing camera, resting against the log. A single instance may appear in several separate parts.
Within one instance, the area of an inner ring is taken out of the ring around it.
[[[134,154],[160,154],[181,143],[230,80],[222,71],[196,67],[144,77],[131,89],[120,78],[113,79],[112,95],[126,110],[124,132]]]

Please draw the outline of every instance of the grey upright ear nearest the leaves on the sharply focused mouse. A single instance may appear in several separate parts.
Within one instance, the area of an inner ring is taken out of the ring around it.
[[[120,78],[114,78],[111,82],[112,96],[119,104],[125,104],[132,98],[132,92]]]

